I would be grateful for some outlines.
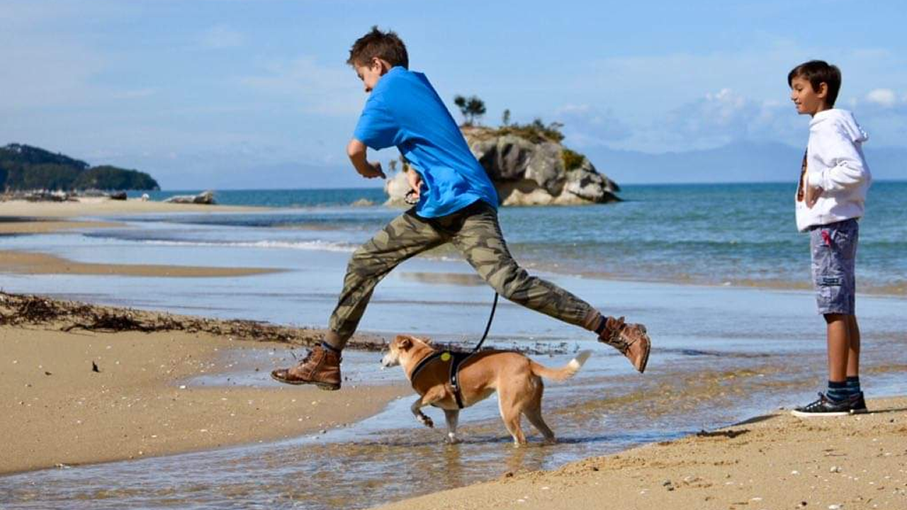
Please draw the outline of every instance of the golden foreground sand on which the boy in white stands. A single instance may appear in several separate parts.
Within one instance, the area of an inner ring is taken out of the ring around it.
[[[907,508],[907,397],[869,407],[869,415],[811,420],[779,411],[378,508]]]

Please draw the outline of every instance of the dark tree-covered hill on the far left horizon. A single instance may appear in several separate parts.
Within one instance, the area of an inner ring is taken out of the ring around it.
[[[38,147],[0,147],[0,190],[160,190],[145,172],[88,163]]]

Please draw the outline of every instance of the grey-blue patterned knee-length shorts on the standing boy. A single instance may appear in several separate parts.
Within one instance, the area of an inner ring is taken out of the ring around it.
[[[853,315],[855,310],[854,260],[860,237],[855,219],[813,227],[809,246],[813,253],[813,283],[819,313]]]

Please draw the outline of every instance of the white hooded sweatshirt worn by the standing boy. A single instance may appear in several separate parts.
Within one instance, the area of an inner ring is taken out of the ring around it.
[[[824,110],[809,123],[806,146],[806,184],[821,186],[822,196],[812,209],[795,201],[796,228],[804,231],[863,216],[866,190],[873,180],[863,158],[869,135],[846,110]],[[796,199],[795,199],[796,200]]]

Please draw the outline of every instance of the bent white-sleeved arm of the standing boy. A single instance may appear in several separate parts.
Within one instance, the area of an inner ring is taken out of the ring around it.
[[[820,159],[827,164],[818,172],[808,172],[808,184],[824,192],[845,191],[866,181],[869,172],[853,140],[841,129],[823,133],[817,140]]]

